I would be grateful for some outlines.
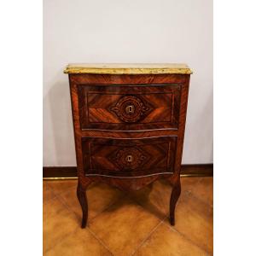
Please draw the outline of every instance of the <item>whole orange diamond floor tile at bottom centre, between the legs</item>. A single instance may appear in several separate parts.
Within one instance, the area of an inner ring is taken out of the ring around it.
[[[94,218],[89,228],[114,255],[125,256],[131,255],[157,224],[159,218],[125,198]]]

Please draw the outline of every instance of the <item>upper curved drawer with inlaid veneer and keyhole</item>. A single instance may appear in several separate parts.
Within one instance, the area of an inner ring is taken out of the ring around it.
[[[80,127],[112,131],[177,129],[180,85],[79,85]]]

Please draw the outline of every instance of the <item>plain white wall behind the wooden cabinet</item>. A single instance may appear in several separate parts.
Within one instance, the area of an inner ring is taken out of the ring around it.
[[[212,163],[212,0],[44,0],[44,166],[74,166],[69,62],[185,62],[183,164]]]

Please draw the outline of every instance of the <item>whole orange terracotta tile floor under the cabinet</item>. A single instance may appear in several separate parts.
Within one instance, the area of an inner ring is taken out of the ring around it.
[[[172,188],[159,180],[129,195],[91,184],[84,230],[77,180],[44,181],[44,255],[212,255],[212,177],[181,180],[174,227],[168,221]]]

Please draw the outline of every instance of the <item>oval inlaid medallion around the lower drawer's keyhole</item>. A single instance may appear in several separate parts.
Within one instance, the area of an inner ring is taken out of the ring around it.
[[[108,156],[108,160],[113,162],[115,166],[119,166],[121,170],[137,169],[149,159],[150,155],[140,148],[122,148]]]

